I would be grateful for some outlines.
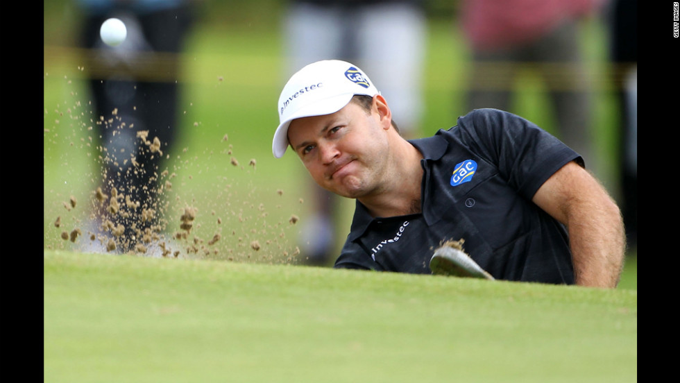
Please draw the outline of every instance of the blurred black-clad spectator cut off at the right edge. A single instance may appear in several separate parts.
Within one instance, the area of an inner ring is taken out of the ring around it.
[[[620,205],[629,246],[638,235],[638,22],[636,0],[609,8],[611,62],[620,108]]]

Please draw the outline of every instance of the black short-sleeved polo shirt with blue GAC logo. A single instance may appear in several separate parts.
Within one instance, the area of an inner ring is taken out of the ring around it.
[[[447,239],[500,280],[573,284],[566,229],[532,203],[543,182],[578,153],[530,121],[473,110],[457,126],[411,140],[425,170],[422,213],[372,217],[357,201],[336,268],[431,273]]]

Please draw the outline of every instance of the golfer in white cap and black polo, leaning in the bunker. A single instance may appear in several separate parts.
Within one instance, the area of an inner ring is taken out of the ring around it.
[[[618,284],[618,206],[535,124],[480,109],[409,141],[368,76],[341,60],[300,69],[278,112],[274,156],[291,146],[318,185],[357,200],[335,267],[431,273],[434,249],[453,239],[495,279]]]

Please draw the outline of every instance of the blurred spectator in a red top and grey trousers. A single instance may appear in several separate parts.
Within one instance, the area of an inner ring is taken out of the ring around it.
[[[597,158],[590,130],[591,99],[581,57],[579,22],[596,15],[604,0],[461,0],[460,22],[472,70],[465,112],[513,110],[516,76],[541,76],[556,117],[556,132],[590,169]]]

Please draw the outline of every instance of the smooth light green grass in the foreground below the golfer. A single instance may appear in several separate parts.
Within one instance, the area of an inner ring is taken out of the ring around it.
[[[44,382],[636,382],[637,291],[44,250]]]

